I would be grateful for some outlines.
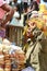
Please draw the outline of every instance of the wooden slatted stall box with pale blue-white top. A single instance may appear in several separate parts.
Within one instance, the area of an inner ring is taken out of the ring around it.
[[[9,25],[7,25],[7,38],[16,46],[22,46],[23,34],[23,15],[21,20],[12,19]]]

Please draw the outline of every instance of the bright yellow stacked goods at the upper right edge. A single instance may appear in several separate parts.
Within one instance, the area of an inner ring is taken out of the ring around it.
[[[47,21],[47,8],[45,4],[39,4],[39,11],[38,13],[43,15],[43,19]]]

